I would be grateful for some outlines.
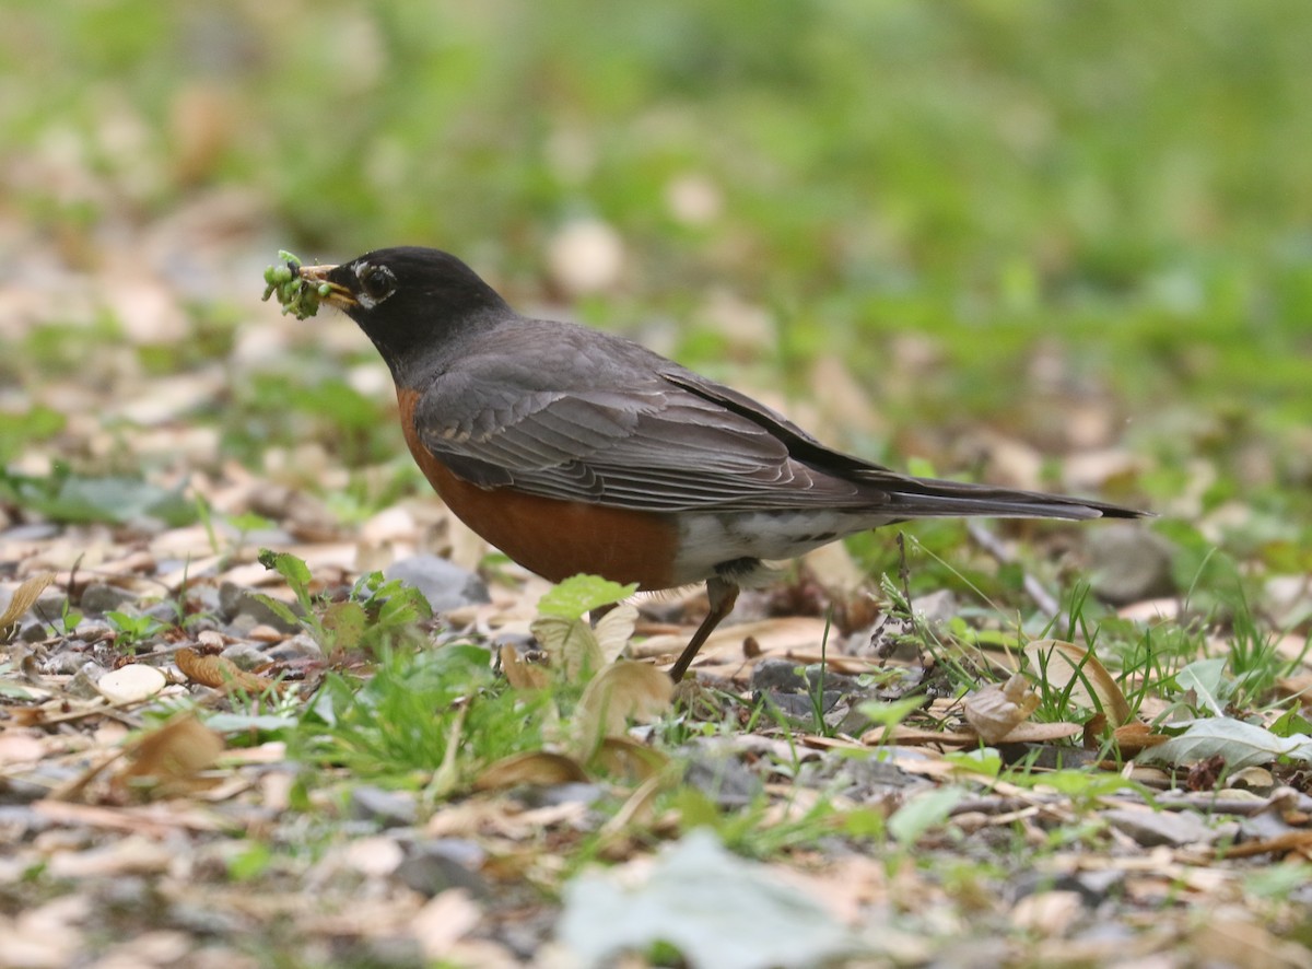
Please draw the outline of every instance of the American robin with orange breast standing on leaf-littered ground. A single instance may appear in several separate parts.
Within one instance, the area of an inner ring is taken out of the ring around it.
[[[833,450],[636,343],[521,316],[438,249],[377,249],[299,274],[374,341],[415,461],[483,538],[552,582],[706,582],[710,614],[676,680],[739,588],[769,574],[765,559],[917,517],[1141,515],[913,478]]]

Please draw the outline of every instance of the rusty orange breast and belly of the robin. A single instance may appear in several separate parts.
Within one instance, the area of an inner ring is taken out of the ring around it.
[[[551,582],[590,572],[644,590],[673,584],[678,528],[670,516],[471,484],[420,442],[419,394],[398,387],[396,399],[411,454],[446,507],[525,569]]]

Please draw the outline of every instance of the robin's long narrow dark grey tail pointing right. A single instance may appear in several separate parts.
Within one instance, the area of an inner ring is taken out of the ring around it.
[[[888,492],[888,509],[908,519],[983,516],[996,519],[1141,519],[1152,512],[1093,502],[1071,495],[1015,491],[988,484],[905,477],[882,481]]]

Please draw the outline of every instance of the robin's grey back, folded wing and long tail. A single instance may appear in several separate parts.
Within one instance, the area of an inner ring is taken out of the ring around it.
[[[884,520],[1139,515],[1077,498],[897,474],[827,448],[756,400],[638,344],[548,326],[517,328],[522,345],[514,355],[463,353],[421,398],[420,441],[461,478],[653,512],[823,507]]]

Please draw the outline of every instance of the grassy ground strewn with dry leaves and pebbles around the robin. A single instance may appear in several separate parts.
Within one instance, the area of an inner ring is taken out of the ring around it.
[[[266,7],[0,41],[0,965],[1312,964],[1302,7]],[[1157,517],[832,546],[674,689],[699,590],[518,570],[260,301],[400,242]]]

